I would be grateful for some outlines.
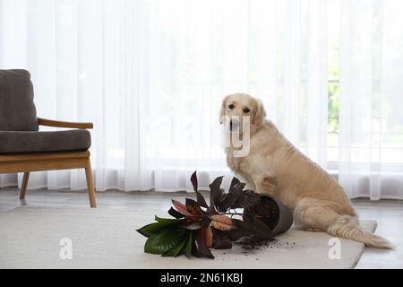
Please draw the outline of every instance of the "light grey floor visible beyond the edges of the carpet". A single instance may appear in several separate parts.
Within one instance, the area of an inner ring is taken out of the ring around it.
[[[30,190],[26,200],[18,198],[16,188],[0,189],[1,213],[18,206],[77,207],[88,206],[88,196],[84,192]],[[170,199],[181,199],[183,193],[124,193],[107,191],[97,194],[99,208],[133,209],[152,204],[167,210]],[[191,195],[187,195],[191,196]],[[366,248],[356,268],[403,268],[403,201],[382,200],[371,202],[366,199],[353,200],[361,219],[378,222],[376,233],[384,236],[397,246],[395,250]]]

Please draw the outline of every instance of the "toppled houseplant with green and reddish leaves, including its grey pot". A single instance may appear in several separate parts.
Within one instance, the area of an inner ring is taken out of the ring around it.
[[[278,199],[244,190],[245,184],[237,178],[232,179],[225,193],[220,187],[222,179],[210,184],[207,204],[194,172],[191,181],[196,200],[186,198],[184,204],[173,200],[168,211],[173,218],[156,216],[156,222],[137,230],[148,238],[144,252],[163,257],[214,258],[210,248],[232,248],[232,242],[240,239],[269,240],[289,229],[292,213]],[[265,212],[267,206],[271,206],[270,213]]]

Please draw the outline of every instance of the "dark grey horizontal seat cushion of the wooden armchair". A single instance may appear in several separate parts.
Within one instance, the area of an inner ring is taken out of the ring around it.
[[[90,132],[83,129],[56,132],[0,131],[0,154],[76,152],[90,148]]]

